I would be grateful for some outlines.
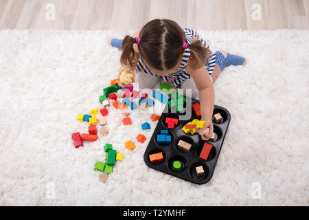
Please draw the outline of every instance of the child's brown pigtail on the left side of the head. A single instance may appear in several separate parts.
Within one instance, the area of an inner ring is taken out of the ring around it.
[[[135,63],[135,51],[133,49],[133,44],[135,43],[135,38],[126,35],[122,41],[122,56],[120,56],[120,64],[124,67],[134,69]]]

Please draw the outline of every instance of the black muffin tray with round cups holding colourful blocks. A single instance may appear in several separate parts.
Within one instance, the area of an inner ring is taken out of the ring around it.
[[[196,102],[198,102],[198,100],[192,99],[192,104]],[[163,173],[168,173],[174,177],[191,181],[194,184],[206,184],[214,174],[214,169],[220,155],[222,144],[225,140],[225,134],[227,133],[229,122],[231,121],[231,115],[227,109],[215,105],[213,115],[220,113],[222,120],[221,122],[216,123],[213,117],[214,133],[216,133],[214,141],[204,141],[198,133],[191,135],[190,133],[186,134],[182,130],[183,126],[185,126],[187,122],[191,122],[194,118],[196,118],[193,109],[191,110],[192,114],[190,120],[179,120],[179,123],[174,129],[168,129],[167,124],[165,124],[165,118],[179,118],[181,113],[172,113],[168,104],[165,105],[165,109],[161,114],[160,120],[144,153],[144,162],[150,168],[159,170]],[[198,119],[201,120],[201,118]],[[157,134],[160,133],[161,129],[168,130],[169,135],[172,136],[171,144],[161,145],[157,143],[156,137]],[[192,144],[192,147],[188,153],[177,147],[179,140],[184,140],[185,142]],[[213,145],[207,160],[199,157],[205,142]],[[149,155],[160,152],[163,153],[164,160],[162,162],[151,164]],[[183,167],[181,171],[173,170],[172,162],[174,162],[174,160],[181,162]],[[196,166],[203,166],[205,174],[197,176],[195,171]]]

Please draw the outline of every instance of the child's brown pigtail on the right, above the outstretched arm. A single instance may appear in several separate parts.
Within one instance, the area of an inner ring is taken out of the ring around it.
[[[187,45],[187,48],[191,51],[191,56],[187,65],[192,69],[198,69],[208,63],[209,57],[211,57],[211,51],[203,47],[200,40],[194,40],[191,44]]]

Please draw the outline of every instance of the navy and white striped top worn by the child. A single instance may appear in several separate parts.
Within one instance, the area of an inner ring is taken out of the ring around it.
[[[187,39],[187,43],[190,44],[192,43],[193,40],[199,39],[202,42],[203,47],[209,48],[207,42],[201,39],[201,37],[196,33],[195,30],[185,28],[184,32],[185,32],[185,38]],[[140,72],[160,77],[165,82],[173,82],[174,87],[178,88],[181,85],[181,83],[183,83],[183,81],[187,80],[188,78],[191,78],[190,74],[185,70],[185,67],[187,67],[187,61],[189,60],[189,57],[190,57],[190,50],[187,48],[185,49],[185,52],[183,52],[183,57],[181,58],[181,64],[179,65],[179,68],[176,70],[176,72],[169,74],[168,76],[159,76],[156,74],[152,74],[152,72],[150,72],[150,70],[148,69],[148,67],[145,65],[145,63],[141,58],[139,58],[136,67]],[[208,74],[211,75],[212,72],[214,71],[214,66],[216,64],[216,54],[212,54],[209,57],[208,61],[209,62],[205,64],[205,67],[207,69]]]

